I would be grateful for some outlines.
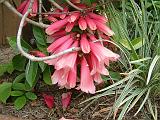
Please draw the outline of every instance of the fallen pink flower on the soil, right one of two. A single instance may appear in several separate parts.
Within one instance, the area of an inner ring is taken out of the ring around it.
[[[62,94],[62,107],[65,110],[71,103],[71,92],[63,93]]]

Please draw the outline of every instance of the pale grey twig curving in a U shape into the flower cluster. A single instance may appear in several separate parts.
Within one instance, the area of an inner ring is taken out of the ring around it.
[[[71,52],[80,50],[79,47],[73,47],[73,48],[67,49],[63,52],[60,52],[58,54],[52,54],[51,56],[47,56],[47,57],[35,57],[33,55],[26,53],[21,46],[21,34],[22,34],[22,29],[23,29],[25,19],[27,18],[30,11],[31,11],[31,9],[28,9],[27,12],[22,17],[20,25],[19,25],[19,29],[18,29],[18,34],[17,34],[17,47],[23,56],[25,56],[26,58],[28,58],[29,60],[32,60],[32,61],[45,61],[45,60],[51,60],[51,59],[57,58],[59,56],[67,54],[67,53],[71,53]]]

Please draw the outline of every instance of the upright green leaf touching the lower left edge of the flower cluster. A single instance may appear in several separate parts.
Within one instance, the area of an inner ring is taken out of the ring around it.
[[[46,84],[52,85],[52,80],[51,80],[51,71],[49,66],[46,67],[45,71],[43,72],[43,80]]]

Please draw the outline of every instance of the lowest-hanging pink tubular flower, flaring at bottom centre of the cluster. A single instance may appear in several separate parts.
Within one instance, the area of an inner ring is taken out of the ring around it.
[[[90,74],[89,65],[85,57],[83,57],[81,61],[80,89],[86,93],[95,93],[94,81]]]

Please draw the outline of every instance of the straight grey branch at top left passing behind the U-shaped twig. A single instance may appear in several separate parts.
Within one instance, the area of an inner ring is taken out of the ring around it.
[[[12,12],[14,12],[15,14],[17,14],[19,17],[23,17],[23,15],[21,13],[19,13],[8,1],[4,1],[3,4],[9,8]],[[38,23],[38,22],[35,22],[29,18],[26,18],[26,21],[30,24],[33,24],[33,25],[36,25],[38,27],[41,27],[41,28],[47,28],[49,25],[47,24],[42,24],[42,23]]]

